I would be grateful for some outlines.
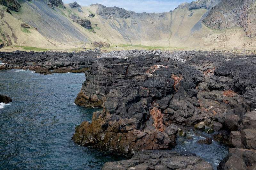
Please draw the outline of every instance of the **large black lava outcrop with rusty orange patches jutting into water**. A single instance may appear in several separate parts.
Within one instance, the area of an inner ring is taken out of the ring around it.
[[[181,57],[183,63],[161,54],[99,58],[85,72],[75,102],[103,110],[93,114],[92,123],[77,126],[73,140],[133,155],[172,148],[177,134],[169,130],[172,123],[192,126],[212,121],[215,130],[225,126],[240,132],[243,147],[254,149],[255,56],[207,55],[190,52]],[[241,124],[243,119],[247,123]]]

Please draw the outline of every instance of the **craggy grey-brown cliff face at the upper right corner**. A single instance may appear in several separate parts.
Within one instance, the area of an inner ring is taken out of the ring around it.
[[[252,38],[256,36],[255,10],[255,0],[222,0],[210,10],[202,22],[206,26],[220,30],[241,26],[246,35]]]

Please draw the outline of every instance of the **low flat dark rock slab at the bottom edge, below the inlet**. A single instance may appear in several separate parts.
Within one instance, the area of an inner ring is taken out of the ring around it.
[[[205,169],[212,165],[192,153],[177,153],[171,150],[148,150],[136,153],[129,160],[106,162],[102,170],[108,169]]]

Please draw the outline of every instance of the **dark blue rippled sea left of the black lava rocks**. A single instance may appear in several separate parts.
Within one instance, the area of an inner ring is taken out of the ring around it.
[[[0,71],[0,93],[13,100],[0,105],[0,169],[100,169],[123,159],[71,139],[100,110],[74,104],[84,80],[84,73]]]

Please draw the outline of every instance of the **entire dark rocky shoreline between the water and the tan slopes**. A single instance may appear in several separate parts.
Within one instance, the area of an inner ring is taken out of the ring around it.
[[[213,139],[230,149],[218,169],[255,168],[255,54],[104,53],[96,49],[78,53],[1,52],[0,60],[6,63],[0,65],[1,70],[85,72],[86,80],[75,103],[103,109],[93,113],[91,123],[77,126],[72,139],[81,146],[133,156],[123,162],[108,162],[102,169],[211,169],[191,153],[170,151],[176,136],[185,135],[185,128],[178,129],[177,125],[195,126],[207,133],[219,131]],[[156,161],[155,152],[173,165]]]

